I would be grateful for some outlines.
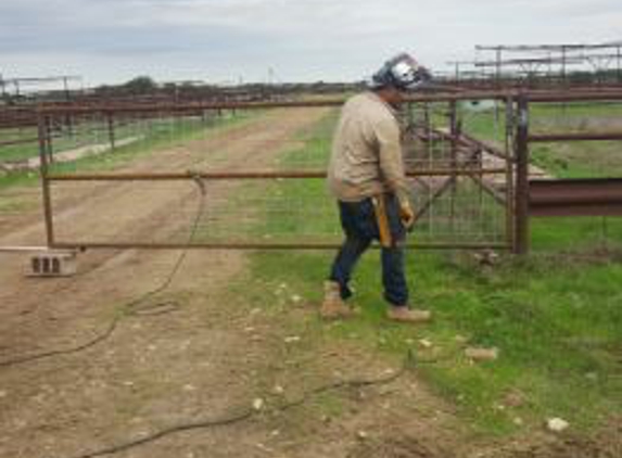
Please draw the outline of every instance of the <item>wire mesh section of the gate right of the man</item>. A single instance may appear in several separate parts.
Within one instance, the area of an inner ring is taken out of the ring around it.
[[[508,238],[509,155],[505,126],[496,123],[498,106],[481,102],[421,103],[406,113],[405,160],[408,171],[446,170],[411,180],[416,208],[415,237],[424,243],[503,244]],[[469,128],[486,148],[468,139]],[[484,136],[485,133],[485,136]],[[500,143],[500,144],[499,144]],[[496,169],[496,173],[486,170]]]

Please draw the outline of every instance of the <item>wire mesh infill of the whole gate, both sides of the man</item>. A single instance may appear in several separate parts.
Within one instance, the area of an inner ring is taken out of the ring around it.
[[[505,243],[504,169],[496,185],[483,174],[484,154],[458,144],[446,105],[404,115],[415,243]],[[85,115],[71,136],[106,148],[51,165],[55,243],[335,245],[325,173],[338,119],[334,106]]]

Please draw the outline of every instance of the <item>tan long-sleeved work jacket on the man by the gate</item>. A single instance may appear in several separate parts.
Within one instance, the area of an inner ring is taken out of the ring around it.
[[[358,202],[382,192],[407,195],[399,123],[395,111],[376,93],[360,93],[343,106],[328,183],[343,202]]]

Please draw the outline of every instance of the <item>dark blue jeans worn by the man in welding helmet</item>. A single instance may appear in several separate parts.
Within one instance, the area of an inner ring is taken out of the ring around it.
[[[393,241],[391,247],[382,247],[380,255],[384,298],[394,306],[403,306],[408,303],[403,246],[406,230],[399,219],[397,198],[386,194],[384,199]],[[360,202],[339,202],[339,212],[345,240],[332,264],[329,279],[339,283],[341,297],[346,300],[352,296],[352,290],[348,288],[352,271],[371,242],[380,239],[380,232],[371,199]]]

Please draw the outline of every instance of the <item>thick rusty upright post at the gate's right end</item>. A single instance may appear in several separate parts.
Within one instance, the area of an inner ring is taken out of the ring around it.
[[[516,133],[516,236],[515,254],[529,252],[529,103],[524,94],[518,97],[518,125]]]

